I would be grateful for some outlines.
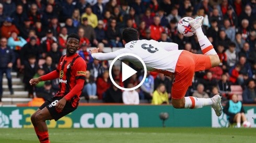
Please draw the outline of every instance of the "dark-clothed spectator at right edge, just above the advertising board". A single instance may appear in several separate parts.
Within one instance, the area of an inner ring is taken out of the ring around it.
[[[243,90],[242,101],[246,104],[256,103],[256,89],[254,80],[250,80],[246,89]]]

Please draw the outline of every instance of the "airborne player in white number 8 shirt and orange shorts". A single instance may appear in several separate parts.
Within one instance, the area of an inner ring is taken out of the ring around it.
[[[195,29],[196,36],[201,46],[202,54],[193,54],[187,50],[178,50],[178,44],[157,42],[154,40],[138,40],[138,32],[133,28],[126,28],[122,32],[125,48],[110,52],[98,53],[98,48],[91,50],[91,56],[97,60],[112,60],[115,57],[131,53],[139,56],[145,62],[147,71],[174,74],[172,84],[171,102],[174,108],[202,108],[212,106],[217,116],[222,114],[221,97],[215,95],[212,98],[184,97],[188,87],[192,85],[195,71],[203,71],[219,65],[219,57],[213,45],[204,35],[201,25],[203,17],[196,17],[191,20],[190,26]],[[128,60],[137,66],[141,62],[131,56],[124,56],[120,59]],[[141,66],[142,67],[142,66]]]

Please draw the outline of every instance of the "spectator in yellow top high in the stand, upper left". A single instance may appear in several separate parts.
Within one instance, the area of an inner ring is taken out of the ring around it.
[[[92,26],[92,28],[96,28],[98,25],[98,18],[97,16],[92,12],[91,7],[88,6],[85,8],[85,13],[82,14],[82,19],[83,18],[88,19],[88,24]]]

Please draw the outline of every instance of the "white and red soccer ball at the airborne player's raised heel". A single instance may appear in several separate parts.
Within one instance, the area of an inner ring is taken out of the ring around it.
[[[194,35],[194,32],[195,32],[195,30],[189,25],[190,20],[193,20],[193,18],[183,17],[178,22],[178,31],[186,37]]]

